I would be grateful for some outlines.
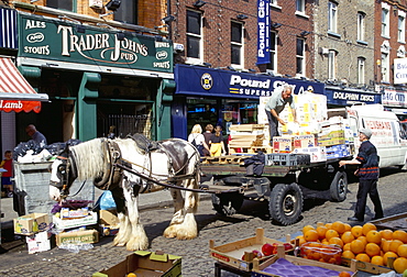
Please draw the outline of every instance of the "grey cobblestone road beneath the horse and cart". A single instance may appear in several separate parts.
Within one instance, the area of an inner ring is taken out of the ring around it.
[[[380,179],[380,195],[385,215],[407,212],[407,173],[397,170],[382,170]],[[210,201],[202,201],[197,213],[199,237],[191,241],[168,240],[162,236],[169,223],[173,208],[147,210],[141,213],[142,222],[151,242],[151,250],[163,250],[167,253],[183,256],[183,276],[213,276],[213,259],[209,257],[209,240],[216,245],[245,239],[255,234],[256,228],[263,228],[265,235],[280,239],[285,234],[294,234],[307,224],[319,221],[333,222],[352,215],[355,203],[358,184],[349,185],[348,199],[343,202],[330,202],[319,195],[319,199],[311,198],[305,203],[301,220],[289,226],[272,224],[267,219],[267,204],[245,201],[240,214],[231,218],[217,215]],[[322,198],[322,199],[321,199]],[[372,203],[369,200],[366,220],[370,219]],[[9,245],[10,251],[0,255],[1,276],[91,276],[103,267],[110,267],[122,261],[129,252],[122,247],[113,247],[112,239],[102,239],[89,251],[79,254],[64,250],[29,255],[23,244],[14,242],[15,247]],[[231,276],[223,274],[223,276]]]

